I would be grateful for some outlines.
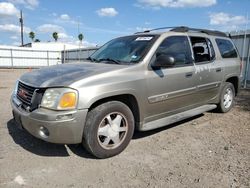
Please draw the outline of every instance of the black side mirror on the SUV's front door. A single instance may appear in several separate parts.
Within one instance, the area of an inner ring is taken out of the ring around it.
[[[158,53],[156,54],[156,59],[152,63],[153,68],[167,68],[167,67],[173,67],[175,64],[175,59],[173,56],[164,54],[164,53]]]

